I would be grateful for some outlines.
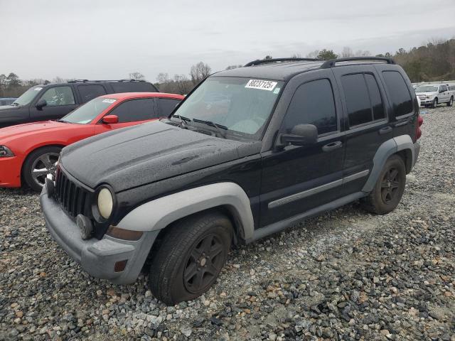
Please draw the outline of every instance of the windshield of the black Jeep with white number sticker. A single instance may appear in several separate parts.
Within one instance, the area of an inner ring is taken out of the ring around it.
[[[271,80],[209,77],[173,116],[213,122],[225,129],[228,139],[259,140],[282,86]]]

